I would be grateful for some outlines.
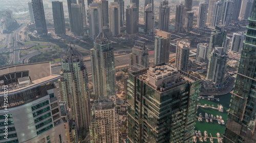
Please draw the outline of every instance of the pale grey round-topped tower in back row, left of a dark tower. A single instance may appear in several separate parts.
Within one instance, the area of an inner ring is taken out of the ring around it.
[[[120,34],[120,7],[117,2],[110,3],[109,6],[110,32],[112,36]]]

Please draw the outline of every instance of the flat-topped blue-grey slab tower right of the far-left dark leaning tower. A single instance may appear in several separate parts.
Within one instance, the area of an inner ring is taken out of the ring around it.
[[[52,14],[55,34],[66,34],[66,25],[64,19],[62,2],[52,2]]]

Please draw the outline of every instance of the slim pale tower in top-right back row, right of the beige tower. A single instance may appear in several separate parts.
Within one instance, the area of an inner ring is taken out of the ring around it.
[[[221,20],[221,12],[222,12],[222,2],[218,1],[216,3],[214,3],[214,10],[212,12],[212,16],[211,16],[211,26],[216,26],[220,24],[220,20]]]

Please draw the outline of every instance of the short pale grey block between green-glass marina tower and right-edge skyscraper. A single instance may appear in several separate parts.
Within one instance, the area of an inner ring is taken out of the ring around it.
[[[245,39],[245,35],[243,35],[243,33],[233,33],[230,50],[241,54],[242,47],[244,45],[244,43],[243,43],[244,39]]]

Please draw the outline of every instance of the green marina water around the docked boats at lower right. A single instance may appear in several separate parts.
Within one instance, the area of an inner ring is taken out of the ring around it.
[[[205,97],[207,97],[207,96],[205,96]],[[203,136],[204,136],[204,131],[207,131],[209,136],[210,136],[210,133],[211,133],[212,137],[217,137],[217,133],[218,132],[220,134],[225,132],[225,127],[226,127],[227,117],[228,117],[226,110],[229,109],[231,94],[228,93],[228,94],[221,95],[221,96],[215,96],[215,98],[219,98],[220,101],[216,101],[216,100],[212,101],[212,100],[208,100],[207,98],[205,98],[205,99],[199,99],[199,103],[201,105],[207,104],[207,106],[214,105],[217,108],[218,108],[218,104],[221,104],[223,106],[223,110],[224,111],[223,112],[219,112],[219,110],[212,109],[212,108],[198,107],[198,109],[197,109],[197,116],[199,116],[199,113],[202,113],[202,116],[205,117],[205,112],[207,112],[208,115],[213,115],[217,119],[217,115],[219,115],[219,116],[222,116],[223,120],[225,121],[225,125],[218,124],[217,120],[213,120],[213,123],[210,123],[210,120],[207,123],[205,121],[205,119],[203,119],[202,122],[199,122],[197,120],[195,130],[197,130],[197,131],[200,130],[202,132]],[[197,137],[197,142],[200,142],[198,137]],[[210,142],[210,140],[207,139],[207,142]],[[214,142],[218,143],[218,140],[214,139]]]

